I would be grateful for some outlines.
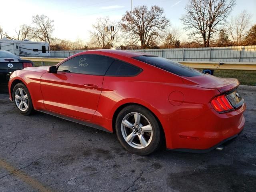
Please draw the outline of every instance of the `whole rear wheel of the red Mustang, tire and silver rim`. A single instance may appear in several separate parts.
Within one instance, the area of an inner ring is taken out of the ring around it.
[[[162,141],[161,129],[154,115],[137,105],[120,111],[116,119],[116,134],[126,150],[139,155],[154,152]]]

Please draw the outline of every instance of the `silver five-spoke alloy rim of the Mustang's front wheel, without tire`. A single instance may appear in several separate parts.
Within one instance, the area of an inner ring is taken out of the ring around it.
[[[28,109],[28,95],[26,94],[24,89],[16,89],[14,97],[16,106],[19,108],[19,110],[26,111]]]

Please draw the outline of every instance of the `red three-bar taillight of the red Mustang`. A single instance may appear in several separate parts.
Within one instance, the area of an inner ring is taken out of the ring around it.
[[[230,104],[225,95],[215,97],[211,101],[211,104],[213,108],[218,112],[227,112],[229,110],[234,109],[234,107],[232,107],[232,105]]]

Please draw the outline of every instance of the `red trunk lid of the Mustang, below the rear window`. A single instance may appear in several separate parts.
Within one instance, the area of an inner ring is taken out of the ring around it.
[[[234,78],[220,78],[210,74],[202,76],[181,77],[185,84],[190,84],[202,88],[218,89],[221,93],[232,90],[239,85],[239,81]]]

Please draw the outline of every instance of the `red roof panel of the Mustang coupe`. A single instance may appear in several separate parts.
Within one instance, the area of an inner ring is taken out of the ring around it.
[[[125,57],[136,57],[136,56],[150,56],[150,54],[144,53],[144,52],[138,52],[138,51],[132,51],[132,50],[113,50],[113,49],[98,49],[98,50],[89,50],[84,53],[90,54],[90,52],[105,52],[105,53],[111,53],[111,54],[116,54],[116,55],[122,55]]]

